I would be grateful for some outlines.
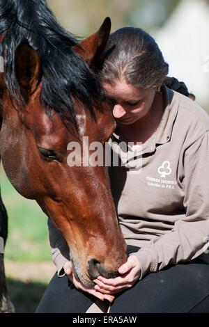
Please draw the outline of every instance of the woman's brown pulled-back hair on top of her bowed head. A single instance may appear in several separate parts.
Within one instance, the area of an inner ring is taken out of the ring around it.
[[[142,29],[124,27],[109,36],[99,76],[102,83],[125,77],[132,86],[157,90],[168,71],[155,40]]]

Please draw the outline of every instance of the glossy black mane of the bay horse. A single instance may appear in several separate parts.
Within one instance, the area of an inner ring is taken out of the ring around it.
[[[76,122],[72,97],[93,115],[100,108],[102,88],[95,74],[72,47],[76,38],[56,21],[45,0],[1,0],[0,55],[5,58],[5,82],[10,95],[23,103],[15,75],[15,51],[24,40],[38,51],[42,67],[40,102]],[[72,96],[72,97],[71,97]]]

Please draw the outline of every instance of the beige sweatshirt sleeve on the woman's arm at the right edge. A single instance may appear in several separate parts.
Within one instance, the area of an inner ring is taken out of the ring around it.
[[[173,230],[139,249],[141,278],[206,253],[209,239],[209,131],[192,143],[183,156],[185,218],[176,221]]]

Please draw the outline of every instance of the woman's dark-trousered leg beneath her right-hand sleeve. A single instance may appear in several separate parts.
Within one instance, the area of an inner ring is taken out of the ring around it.
[[[110,312],[189,312],[208,294],[209,265],[196,260],[150,273],[116,296]]]

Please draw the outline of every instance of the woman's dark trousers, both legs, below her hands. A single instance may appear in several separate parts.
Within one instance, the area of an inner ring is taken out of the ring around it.
[[[139,248],[128,246],[128,253]],[[96,298],[80,292],[56,274],[38,305],[37,313],[84,313]],[[134,287],[116,294],[110,313],[209,313],[209,264],[199,258],[149,273]]]

